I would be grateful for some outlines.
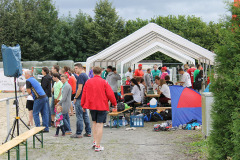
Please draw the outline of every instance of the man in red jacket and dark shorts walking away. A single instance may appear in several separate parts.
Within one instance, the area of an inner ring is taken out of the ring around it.
[[[100,142],[103,123],[106,123],[107,111],[109,111],[108,101],[110,100],[115,107],[117,106],[114,92],[108,82],[101,78],[101,71],[100,67],[93,68],[94,77],[86,82],[81,100],[83,111],[89,109],[92,116],[93,147],[96,152],[104,150]]]

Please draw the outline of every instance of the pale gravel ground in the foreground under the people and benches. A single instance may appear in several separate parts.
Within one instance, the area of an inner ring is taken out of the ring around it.
[[[2,98],[2,97],[1,97]],[[1,105],[1,107],[3,107]],[[4,106],[5,107],[5,106]],[[25,118],[26,119],[26,118]],[[4,124],[0,117],[0,123]],[[128,127],[104,128],[102,145],[105,150],[96,153],[91,148],[92,138],[84,137],[72,139],[69,135],[65,137],[54,137],[55,128],[50,128],[49,133],[44,133],[44,148],[32,148],[32,138],[28,139],[29,160],[92,160],[92,159],[114,159],[114,160],[192,160],[196,154],[189,154],[186,142],[194,141],[194,137],[201,135],[200,131],[162,131],[154,132],[153,125],[161,122],[148,122],[144,127],[135,131],[126,131]],[[6,126],[6,125],[5,125]],[[71,117],[71,128],[76,128],[76,117]],[[21,131],[25,129],[21,127]],[[5,137],[5,131],[0,130],[1,140]],[[61,132],[60,132],[61,133]],[[85,132],[84,132],[85,133]],[[4,136],[2,136],[4,135]],[[11,152],[11,158],[15,158],[15,150]],[[0,159],[7,159],[7,154],[0,155]],[[25,159],[25,148],[21,147],[21,159]]]

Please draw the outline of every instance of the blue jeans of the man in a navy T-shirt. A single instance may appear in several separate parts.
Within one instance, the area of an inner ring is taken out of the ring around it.
[[[88,117],[88,113],[83,112],[82,106],[81,106],[81,100],[77,99],[75,103],[75,112],[77,117],[77,135],[81,135],[83,131],[83,121],[85,123],[85,131],[87,134],[91,134],[91,127],[90,127],[90,121]]]

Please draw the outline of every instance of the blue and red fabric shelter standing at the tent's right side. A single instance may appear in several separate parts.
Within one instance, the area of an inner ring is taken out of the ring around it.
[[[192,119],[202,124],[201,94],[181,86],[170,86],[170,92],[173,127],[186,124]]]

